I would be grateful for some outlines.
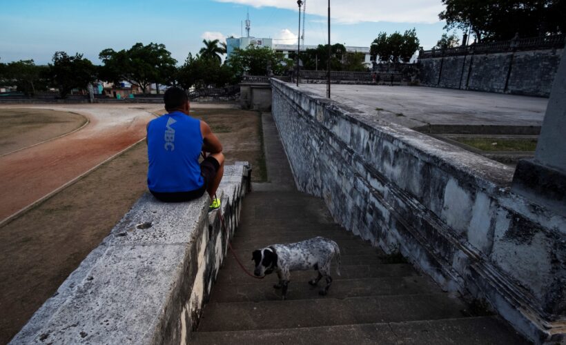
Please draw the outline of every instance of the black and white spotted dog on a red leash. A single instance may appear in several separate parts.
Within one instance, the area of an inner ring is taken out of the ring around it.
[[[332,284],[330,264],[334,255],[338,262],[336,273],[340,275],[340,248],[331,239],[315,237],[297,243],[273,244],[253,251],[252,260],[255,261],[253,274],[257,277],[264,277],[275,270],[279,277],[279,284],[273,287],[282,288],[282,298],[285,299],[291,270],[318,270],[318,276],[309,281],[309,284],[315,286],[322,277],[325,277],[326,286],[319,293],[326,295]]]

